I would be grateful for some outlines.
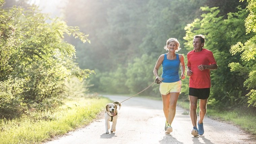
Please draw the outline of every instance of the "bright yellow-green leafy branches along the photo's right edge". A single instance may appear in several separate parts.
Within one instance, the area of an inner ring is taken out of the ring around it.
[[[244,0],[242,0],[244,1]],[[248,6],[247,11],[249,10],[249,15],[245,19],[245,26],[246,26],[246,34],[250,33],[251,31],[256,32],[256,1],[247,0]],[[230,71],[238,71],[240,75],[245,76],[244,87],[247,87],[247,90],[250,90],[246,96],[248,97],[248,103],[250,106],[251,104],[256,107],[256,35],[250,38],[245,44],[238,42],[236,45],[232,45],[230,48],[230,53],[235,55],[236,53],[242,52],[240,54],[241,60],[243,63],[230,63],[228,66],[230,67]]]

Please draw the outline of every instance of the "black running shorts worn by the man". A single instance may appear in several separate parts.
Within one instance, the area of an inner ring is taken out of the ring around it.
[[[189,88],[189,95],[196,96],[198,99],[206,99],[210,96],[210,88]]]

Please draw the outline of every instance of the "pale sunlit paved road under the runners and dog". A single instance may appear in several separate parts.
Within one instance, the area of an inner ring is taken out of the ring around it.
[[[113,101],[128,98],[104,96]],[[172,123],[173,132],[165,135],[162,101],[133,97],[122,104],[115,133],[105,134],[104,113],[101,113],[90,125],[47,144],[256,144],[237,127],[210,118],[204,119],[204,135],[193,137],[190,117],[184,115],[188,111],[180,107]]]

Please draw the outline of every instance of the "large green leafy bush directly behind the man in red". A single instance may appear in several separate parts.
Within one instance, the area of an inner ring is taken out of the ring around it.
[[[209,101],[215,100],[210,102],[209,106],[245,105],[246,99],[244,95],[248,93],[243,88],[243,82],[246,77],[245,72],[247,72],[242,67],[245,62],[239,60],[239,56],[231,56],[227,52],[231,45],[237,43],[237,40],[246,42],[247,39],[252,37],[252,34],[241,37],[241,35],[245,35],[245,27],[243,25],[247,12],[245,9],[238,7],[237,12],[228,13],[227,18],[224,18],[224,16],[219,16],[217,7],[201,7],[201,9],[205,13],[201,15],[201,19],[197,18],[185,27],[186,36],[184,39],[187,41],[185,43],[187,50],[192,50],[193,36],[196,34],[205,35],[204,47],[213,52],[219,66],[217,70],[211,71],[212,88]],[[227,67],[230,63],[242,71],[240,73],[230,73],[230,69]]]

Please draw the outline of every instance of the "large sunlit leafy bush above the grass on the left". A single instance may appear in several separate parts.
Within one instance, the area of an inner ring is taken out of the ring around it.
[[[79,32],[78,27],[67,26],[58,18],[50,19],[36,7],[4,9],[3,0],[0,5],[0,82],[5,87],[1,95],[4,102],[0,107],[6,108],[1,111],[2,115],[11,114],[9,118],[17,115],[6,106],[8,102],[15,104],[11,106],[13,110],[25,105],[37,105],[38,108],[60,104],[65,80],[73,76],[82,80],[93,73],[80,69],[74,63],[75,48],[64,41],[64,35],[72,35],[83,43],[90,42],[88,35]],[[6,92],[6,88],[13,87],[12,83],[22,91]],[[12,102],[6,101],[8,97]]]

